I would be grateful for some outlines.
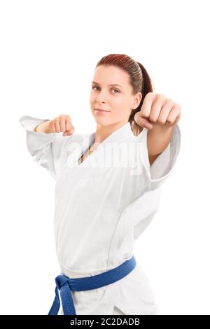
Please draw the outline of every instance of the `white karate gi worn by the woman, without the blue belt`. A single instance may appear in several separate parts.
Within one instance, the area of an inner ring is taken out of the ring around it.
[[[172,174],[180,151],[179,125],[176,123],[169,146],[151,167],[148,130],[144,128],[136,137],[130,123],[109,135],[78,165],[95,133],[63,137],[62,132],[33,132],[45,120],[49,119],[23,116],[20,123],[27,132],[29,153],[55,179],[60,271],[71,278],[106,272],[135,255],[135,241],[158,210],[160,188]],[[78,315],[115,314],[116,307],[125,314],[160,311],[138,262],[123,279],[97,289],[72,291],[72,296]]]

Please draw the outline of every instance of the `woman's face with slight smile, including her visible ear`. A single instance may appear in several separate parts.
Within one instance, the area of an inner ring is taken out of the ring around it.
[[[96,123],[103,126],[127,123],[131,110],[137,109],[142,97],[141,92],[132,94],[129,75],[116,66],[99,65],[92,80],[90,109]]]

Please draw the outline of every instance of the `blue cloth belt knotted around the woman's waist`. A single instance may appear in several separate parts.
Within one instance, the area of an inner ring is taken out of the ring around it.
[[[107,286],[110,283],[123,279],[124,276],[132,272],[136,265],[137,262],[133,255],[132,258],[130,258],[129,260],[125,260],[125,262],[123,262],[123,264],[119,265],[118,267],[94,276],[85,276],[83,278],[70,279],[64,274],[58,275],[55,278],[55,300],[52,303],[52,307],[50,308],[48,315],[58,314],[60,307],[58,290],[60,290],[60,297],[62,300],[64,315],[74,315],[76,314],[76,311],[73,304],[71,290],[82,291]]]

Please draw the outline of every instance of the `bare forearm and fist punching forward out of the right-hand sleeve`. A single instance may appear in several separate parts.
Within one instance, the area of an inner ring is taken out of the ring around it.
[[[174,125],[181,117],[181,106],[164,94],[148,92],[134,120],[142,128],[148,129],[148,158],[150,165],[167,148],[172,139]]]

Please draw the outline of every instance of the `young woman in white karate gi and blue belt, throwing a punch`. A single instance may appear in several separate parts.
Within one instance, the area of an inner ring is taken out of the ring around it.
[[[69,115],[20,118],[29,152],[56,180],[61,273],[49,314],[159,314],[134,244],[174,169],[181,107],[153,92],[142,64],[111,54],[94,70],[90,110],[90,134],[75,134]]]

